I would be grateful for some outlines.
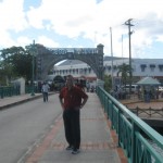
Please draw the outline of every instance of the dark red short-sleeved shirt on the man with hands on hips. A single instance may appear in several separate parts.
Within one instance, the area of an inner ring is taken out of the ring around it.
[[[73,109],[80,106],[82,99],[88,98],[88,96],[78,87],[73,86],[71,90],[67,87],[64,87],[60,95],[60,99],[63,99],[63,104],[65,109]]]

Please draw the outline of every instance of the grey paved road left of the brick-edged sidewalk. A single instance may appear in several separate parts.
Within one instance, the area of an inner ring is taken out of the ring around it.
[[[0,163],[23,159],[50,129],[62,110],[58,95],[0,111]]]

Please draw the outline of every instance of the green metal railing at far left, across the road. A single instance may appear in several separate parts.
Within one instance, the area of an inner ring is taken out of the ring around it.
[[[20,95],[20,87],[0,87],[0,98],[3,99],[4,97],[12,97]]]

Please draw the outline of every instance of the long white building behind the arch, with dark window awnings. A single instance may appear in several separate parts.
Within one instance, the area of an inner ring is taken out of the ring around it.
[[[113,62],[113,67],[112,67]],[[113,75],[117,78],[118,66],[123,63],[129,64],[129,59],[110,57],[103,60],[103,71],[106,75]],[[158,78],[163,84],[163,59],[131,59],[133,77],[142,78],[145,76],[151,76]],[[112,72],[113,71],[113,72]],[[88,80],[96,80],[97,75],[93,70],[86,63],[67,60],[60,65],[55,65],[53,68],[53,75],[66,76],[72,74],[74,77],[85,77]]]

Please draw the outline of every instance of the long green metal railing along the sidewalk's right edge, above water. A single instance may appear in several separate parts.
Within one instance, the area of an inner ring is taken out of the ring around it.
[[[152,141],[163,151],[163,136],[156,133],[137,115],[120,103],[103,88],[97,87],[97,95],[104,112],[116,130],[118,146],[124,150],[128,163],[163,163],[163,153],[148,141]]]

